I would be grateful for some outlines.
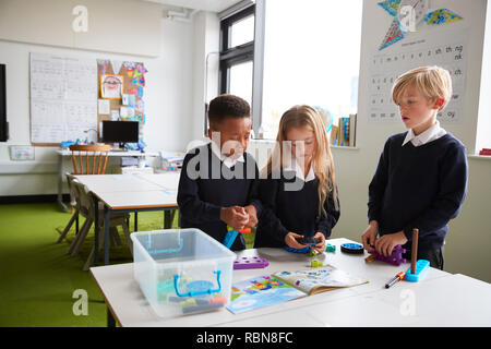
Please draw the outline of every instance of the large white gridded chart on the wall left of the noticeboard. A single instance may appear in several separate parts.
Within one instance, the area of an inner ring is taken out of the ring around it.
[[[31,52],[31,143],[85,140],[97,130],[97,61]],[[91,137],[89,137],[91,140]]]

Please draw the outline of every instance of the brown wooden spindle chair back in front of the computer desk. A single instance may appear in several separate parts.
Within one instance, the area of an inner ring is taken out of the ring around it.
[[[70,145],[72,151],[72,163],[74,174],[104,174],[106,171],[107,156],[111,146],[109,144],[92,145],[92,144],[74,144]],[[76,154],[77,152],[77,154]],[[85,156],[85,160],[83,157]],[[92,156],[92,161],[88,160]],[[97,167],[96,158],[99,157]],[[79,159],[77,159],[79,158]],[[79,168],[76,167],[79,163]],[[89,166],[92,165],[92,167]]]

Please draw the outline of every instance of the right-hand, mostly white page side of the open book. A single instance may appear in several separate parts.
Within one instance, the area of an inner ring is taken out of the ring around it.
[[[349,275],[332,265],[296,272],[278,272],[273,276],[309,296],[368,282],[367,279]]]

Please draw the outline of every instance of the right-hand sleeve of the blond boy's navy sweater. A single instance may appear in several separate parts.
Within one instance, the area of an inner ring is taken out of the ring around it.
[[[463,145],[452,146],[445,154],[440,168],[440,190],[435,200],[424,213],[404,227],[404,234],[411,240],[412,229],[419,237],[438,230],[458,215],[467,193],[468,165]]]

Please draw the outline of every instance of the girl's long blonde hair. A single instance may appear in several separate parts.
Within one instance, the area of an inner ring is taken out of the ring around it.
[[[331,154],[330,142],[324,129],[324,123],[319,112],[310,106],[295,106],[288,109],[279,121],[276,144],[272,155],[267,159],[267,165],[262,169],[262,177],[267,177],[272,172],[279,172],[284,160],[290,154],[285,152],[283,145],[287,141],[287,132],[292,128],[309,128],[315,136],[316,148],[314,149],[312,164],[314,173],[319,179],[319,217],[326,217],[324,203],[332,192],[334,205],[337,208],[336,179],[334,177],[334,161]]]

